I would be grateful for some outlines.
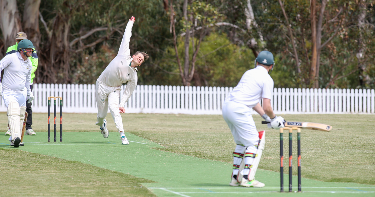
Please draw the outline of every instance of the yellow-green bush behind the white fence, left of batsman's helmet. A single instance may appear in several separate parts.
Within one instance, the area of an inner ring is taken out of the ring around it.
[[[183,38],[178,40],[178,52],[180,56],[184,53]],[[192,44],[190,44],[190,49]],[[192,50],[190,56],[192,56]],[[175,61],[173,47],[166,50],[165,61],[160,66],[167,68],[169,72],[177,74],[178,66]],[[193,82],[193,86],[236,86],[243,73],[254,66],[254,55],[246,47],[240,47],[231,43],[225,34],[211,33],[201,43],[196,61],[196,71],[199,80]],[[182,60],[183,61],[183,60]],[[177,75],[168,78],[163,85],[180,83]]]

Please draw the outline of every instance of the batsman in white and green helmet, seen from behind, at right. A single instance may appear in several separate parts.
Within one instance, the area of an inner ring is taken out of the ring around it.
[[[257,131],[251,108],[257,111],[270,128],[284,127],[284,118],[276,116],[271,107],[273,80],[269,72],[275,61],[269,51],[261,51],[255,68],[242,75],[240,82],[225,98],[223,118],[231,129],[237,146],[233,152],[233,173],[230,186],[264,187],[255,180],[255,173],[265,145],[265,132]],[[260,101],[263,99],[263,107]]]

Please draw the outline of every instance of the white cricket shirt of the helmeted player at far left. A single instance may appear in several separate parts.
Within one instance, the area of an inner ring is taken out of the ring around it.
[[[31,60],[23,60],[19,52],[12,53],[0,60],[0,74],[4,70],[2,86],[4,90],[12,90],[22,94],[25,87],[27,95],[30,95]]]

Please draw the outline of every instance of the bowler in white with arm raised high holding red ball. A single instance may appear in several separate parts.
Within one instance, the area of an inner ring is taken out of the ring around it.
[[[117,56],[111,61],[107,68],[105,68],[98,80],[96,80],[95,85],[95,98],[96,105],[98,106],[98,122],[96,122],[96,125],[100,126],[104,138],[107,138],[107,121],[104,118],[107,116],[109,107],[118,132],[120,132],[121,144],[129,144],[129,141],[124,134],[120,113],[125,113],[124,105],[137,85],[138,77],[136,71],[138,71],[138,69],[136,66],[140,66],[149,57],[148,54],[139,51],[132,57],[130,56],[129,42],[132,36],[134,21],[134,17],[129,19]],[[121,85],[126,82],[126,88],[120,104],[118,104]]]

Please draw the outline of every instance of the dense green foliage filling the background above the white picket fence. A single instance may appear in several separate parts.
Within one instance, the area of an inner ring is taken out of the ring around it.
[[[253,54],[269,50],[276,59],[271,74],[275,87],[312,87],[313,44],[310,1],[307,0],[282,1],[297,46],[301,73],[296,69],[291,39],[278,0],[251,1],[258,25],[252,25],[250,29],[246,28],[245,14],[248,0],[188,0],[187,20],[183,17],[183,0],[42,1],[40,13],[47,28],[40,20],[40,66],[36,82],[95,81],[111,57],[117,54],[127,20],[134,16],[136,23],[130,50],[150,54],[150,59],[139,68],[138,84],[181,84],[171,33],[171,10],[164,7],[165,2],[173,4],[180,57],[184,57],[184,36],[180,35],[186,33],[186,29],[194,29],[190,41],[194,42],[195,49],[202,38],[193,85],[235,86],[243,72],[252,68]],[[317,20],[322,2],[317,1]],[[17,0],[17,5],[22,15],[25,2]],[[375,87],[372,63],[375,61],[374,5],[375,0],[327,1],[321,44],[331,36],[333,39],[320,51],[320,87]],[[231,26],[216,26],[217,22]],[[106,29],[72,43],[97,28]],[[251,40],[258,43],[255,48],[248,46]],[[0,47],[1,43],[0,39]],[[222,48],[216,50],[219,47]],[[190,65],[195,49],[190,42]],[[180,59],[184,63],[184,58]]]

